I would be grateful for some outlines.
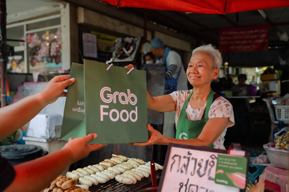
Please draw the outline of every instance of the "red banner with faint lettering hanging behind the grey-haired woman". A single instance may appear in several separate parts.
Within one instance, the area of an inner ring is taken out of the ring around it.
[[[266,51],[269,45],[269,29],[269,24],[221,28],[218,48],[221,52]]]

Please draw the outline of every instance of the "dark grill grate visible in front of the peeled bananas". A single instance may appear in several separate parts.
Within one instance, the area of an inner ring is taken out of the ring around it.
[[[162,174],[162,170],[156,171],[156,179],[157,184],[160,182],[160,177]],[[115,179],[111,179],[106,183],[99,183],[98,185],[92,185],[89,187],[89,191],[91,192],[124,192],[124,191],[136,191],[137,189],[141,189],[144,187],[152,186],[151,176],[148,178],[142,178],[142,180],[137,181],[136,184],[126,185],[119,183]]]

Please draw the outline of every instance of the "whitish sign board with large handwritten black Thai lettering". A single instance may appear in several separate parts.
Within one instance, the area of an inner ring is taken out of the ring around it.
[[[238,170],[247,173],[247,157],[227,155],[226,150],[211,149],[207,147],[194,147],[189,145],[180,145],[170,143],[166,154],[164,170],[160,180],[158,192],[178,191],[178,192],[240,192],[240,187],[235,185],[226,185],[221,180],[216,182],[216,168],[218,165],[218,156],[225,155],[224,161],[228,159],[244,158],[245,164]],[[248,156],[248,155],[247,155]],[[232,160],[233,161],[233,160]],[[222,167],[222,166],[220,166]],[[236,168],[237,169],[237,168]],[[221,172],[221,171],[220,171]],[[245,179],[246,183],[246,179]]]

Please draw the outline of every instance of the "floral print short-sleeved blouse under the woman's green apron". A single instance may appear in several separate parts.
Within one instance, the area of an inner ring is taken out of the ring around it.
[[[181,109],[183,108],[184,102],[186,99],[190,96],[191,90],[184,90],[184,91],[174,91],[170,93],[172,96],[177,108],[176,108],[176,127],[177,122],[179,119],[179,115],[181,113]],[[188,102],[188,105],[186,107],[187,112],[187,118],[190,120],[200,120],[202,118],[202,115],[206,109],[207,103],[205,103],[200,109],[192,109],[190,106],[190,103]],[[229,118],[229,122],[223,133],[219,136],[219,138],[213,143],[214,149],[225,149],[224,147],[224,141],[225,141],[225,134],[227,132],[227,128],[234,126],[235,120],[234,120],[234,112],[233,107],[231,103],[225,99],[224,97],[220,96],[214,100],[210,107],[209,111],[209,119],[214,117],[224,117]]]

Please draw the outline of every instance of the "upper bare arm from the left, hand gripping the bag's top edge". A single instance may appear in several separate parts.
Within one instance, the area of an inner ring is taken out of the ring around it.
[[[75,79],[69,79],[69,75],[55,76],[40,92],[0,108],[0,139],[24,126],[47,104],[55,102],[58,97],[65,97],[63,90],[74,82]]]

